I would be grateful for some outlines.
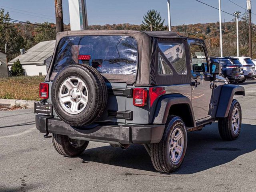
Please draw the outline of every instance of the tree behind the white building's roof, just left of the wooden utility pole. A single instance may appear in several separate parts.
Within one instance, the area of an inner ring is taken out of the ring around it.
[[[55,40],[56,38],[56,29],[53,27],[54,24],[44,22],[35,28],[34,33],[34,42],[39,43],[41,41],[50,41]]]

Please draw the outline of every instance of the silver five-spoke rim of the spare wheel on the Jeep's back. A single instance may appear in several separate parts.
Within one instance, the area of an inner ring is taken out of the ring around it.
[[[88,103],[88,88],[80,78],[69,77],[60,85],[59,100],[66,112],[78,114]]]

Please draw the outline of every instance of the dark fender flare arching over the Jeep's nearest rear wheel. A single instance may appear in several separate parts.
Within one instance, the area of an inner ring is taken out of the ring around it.
[[[196,127],[191,100],[182,94],[169,94],[159,98],[154,113],[153,124],[165,124],[171,106],[176,104],[186,104],[188,106],[192,124]]]

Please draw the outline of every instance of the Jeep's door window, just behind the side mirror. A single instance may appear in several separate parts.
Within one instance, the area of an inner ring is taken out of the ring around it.
[[[190,44],[191,54],[191,70],[192,73],[204,73],[207,72],[207,60],[203,46]]]

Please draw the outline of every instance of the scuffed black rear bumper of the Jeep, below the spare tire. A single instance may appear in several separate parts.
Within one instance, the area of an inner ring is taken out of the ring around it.
[[[164,125],[98,125],[93,124],[85,129],[74,128],[60,119],[51,116],[36,115],[36,128],[41,133],[54,133],[86,140],[120,143],[150,144],[158,143],[164,133]]]

